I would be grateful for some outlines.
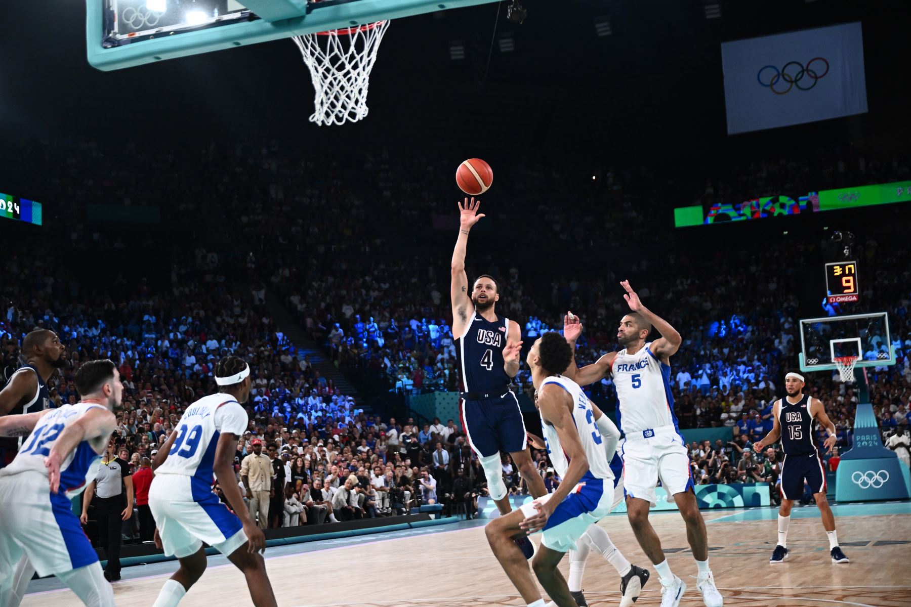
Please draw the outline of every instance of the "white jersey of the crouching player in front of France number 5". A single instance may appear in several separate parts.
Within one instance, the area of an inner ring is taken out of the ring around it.
[[[595,412],[591,409],[589,397],[579,388],[578,383],[562,375],[551,375],[544,380],[541,387],[543,388],[548,384],[557,384],[560,388],[568,391],[570,398],[572,398],[572,420],[576,424],[578,439],[582,442],[585,457],[589,460],[589,474],[597,479],[613,480],[614,473],[610,470],[610,465],[604,452],[604,441],[601,439],[601,433],[598,430],[598,426],[595,425]],[[551,463],[554,464],[554,470],[557,471],[561,479],[565,478],[569,468],[569,458],[566,451],[560,446],[557,430],[548,424],[543,417],[541,418],[541,428],[544,430],[544,442],[548,446],[548,455]]]

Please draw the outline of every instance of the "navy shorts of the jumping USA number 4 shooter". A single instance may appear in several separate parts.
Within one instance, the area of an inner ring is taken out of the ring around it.
[[[462,427],[468,444],[479,458],[524,451],[527,447],[525,422],[518,399],[512,392],[486,400],[459,400]]]

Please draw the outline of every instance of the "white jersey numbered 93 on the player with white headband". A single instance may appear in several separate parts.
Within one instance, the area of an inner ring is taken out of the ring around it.
[[[199,481],[200,489],[211,486],[212,467],[219,437],[224,433],[242,436],[247,430],[247,411],[230,396],[218,392],[189,406],[177,424],[177,439],[159,474],[183,474]]]

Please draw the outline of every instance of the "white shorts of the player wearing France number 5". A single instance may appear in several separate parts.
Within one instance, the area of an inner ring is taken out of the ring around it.
[[[655,487],[659,482],[669,496],[693,486],[690,455],[673,426],[628,432],[620,455],[623,491],[630,498],[640,498],[654,506]]]

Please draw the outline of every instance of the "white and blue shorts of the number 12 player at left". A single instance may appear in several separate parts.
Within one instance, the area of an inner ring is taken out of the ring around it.
[[[98,561],[67,496],[36,470],[0,477],[0,587],[24,554],[42,577]]]

